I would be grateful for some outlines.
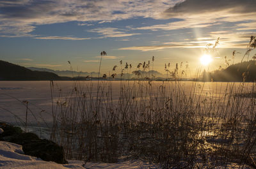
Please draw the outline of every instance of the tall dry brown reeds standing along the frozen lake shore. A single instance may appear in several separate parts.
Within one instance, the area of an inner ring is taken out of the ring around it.
[[[120,67],[121,73],[131,72],[121,62]],[[215,83],[215,91],[205,94],[206,83],[190,82],[188,90],[179,81],[186,75],[180,67],[165,66],[166,79],[170,75],[174,81],[143,77],[138,70],[150,70],[150,62],[144,62],[133,71],[137,80],[74,82],[68,96],[52,96],[57,101],[51,139],[68,159],[85,162],[125,157],[163,168],[256,167],[255,83]],[[118,86],[117,99],[113,86]]]

